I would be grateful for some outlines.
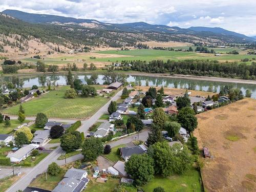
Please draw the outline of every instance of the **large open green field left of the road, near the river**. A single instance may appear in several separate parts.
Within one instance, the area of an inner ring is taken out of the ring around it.
[[[66,99],[67,86],[58,87],[56,91],[50,91],[23,104],[26,115],[35,116],[37,113],[45,113],[48,117],[56,118],[84,118],[93,115],[102,105],[108,102],[105,97],[77,97]],[[36,106],[36,107],[35,107]],[[19,105],[4,110],[4,113],[17,115]]]

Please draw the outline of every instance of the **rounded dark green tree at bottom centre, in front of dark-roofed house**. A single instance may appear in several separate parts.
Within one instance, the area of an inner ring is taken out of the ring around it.
[[[125,163],[124,169],[137,185],[143,185],[154,177],[153,159],[147,154],[132,155]]]

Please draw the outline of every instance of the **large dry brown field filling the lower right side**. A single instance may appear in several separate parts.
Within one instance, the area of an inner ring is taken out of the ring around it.
[[[256,100],[243,99],[197,115],[194,135],[203,159],[206,191],[256,191]]]

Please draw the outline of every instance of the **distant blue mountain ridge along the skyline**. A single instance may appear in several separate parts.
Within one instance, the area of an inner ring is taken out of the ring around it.
[[[253,41],[252,37],[248,37],[244,34],[225,30],[223,28],[207,28],[207,27],[190,27],[190,28],[179,28],[176,26],[170,27],[166,25],[151,25],[145,22],[135,23],[123,23],[123,24],[112,24],[103,23],[95,19],[82,19],[65,17],[58,15],[48,14],[35,14],[27,13],[18,10],[4,10],[2,13],[11,15],[15,18],[23,20],[28,23],[34,24],[52,24],[52,25],[78,25],[87,28],[104,29],[112,31],[123,31],[123,32],[157,32],[166,34],[186,34],[186,35],[199,35],[199,36],[215,36],[217,35],[228,35],[230,38],[240,38],[240,41]]]

